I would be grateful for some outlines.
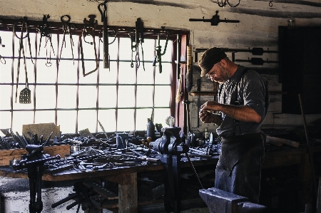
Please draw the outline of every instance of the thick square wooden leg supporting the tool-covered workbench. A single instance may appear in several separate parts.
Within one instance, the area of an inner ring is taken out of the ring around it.
[[[122,213],[138,212],[137,173],[131,173],[129,185],[118,185],[118,209]]]

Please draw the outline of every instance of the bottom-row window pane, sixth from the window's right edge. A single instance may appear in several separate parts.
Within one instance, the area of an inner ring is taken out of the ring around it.
[[[75,110],[57,111],[57,125],[60,125],[62,133],[76,132],[76,113]]]

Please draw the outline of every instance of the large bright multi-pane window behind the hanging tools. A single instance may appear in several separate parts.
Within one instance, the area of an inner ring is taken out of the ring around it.
[[[97,71],[83,76],[83,72],[96,68],[93,45],[82,40],[83,70],[81,36],[73,35],[74,46],[71,46],[70,37],[66,35],[66,47],[61,48],[63,34],[52,33],[51,49],[46,37],[40,42],[39,33],[29,33],[34,63],[25,38],[24,53],[31,90],[31,103],[25,104],[19,103],[19,94],[26,87],[22,56],[16,89],[20,40],[9,31],[0,31],[0,36],[5,45],[0,47],[0,128],[21,132],[24,124],[55,123],[60,125],[62,133],[77,133],[86,128],[95,133],[101,131],[99,120],[107,132],[146,130],[153,106],[154,123],[165,125],[165,118],[173,107],[173,41],[168,41],[162,56],[162,73],[159,73],[158,67],[152,63],[158,46],[157,36],[145,38],[143,53],[139,46],[140,63],[137,64],[131,38],[117,36],[108,46],[110,68],[107,69],[103,68],[103,43],[96,36],[99,66]],[[86,41],[92,42],[91,36],[86,36]],[[161,46],[165,46],[165,39],[161,40]]]

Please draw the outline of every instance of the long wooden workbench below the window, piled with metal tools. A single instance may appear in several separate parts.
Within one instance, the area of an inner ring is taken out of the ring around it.
[[[207,159],[194,159],[193,165],[195,167],[199,165],[216,165],[217,162],[218,155],[214,155]],[[187,160],[182,162],[181,165],[182,167],[190,166]],[[132,213],[138,212],[137,173],[155,170],[163,170],[163,165],[161,163],[154,163],[140,166],[122,166],[93,172],[76,172],[76,170],[68,170],[65,172],[58,172],[53,175],[44,174],[42,176],[42,180],[50,182],[60,182],[65,180],[97,180],[98,182],[101,182],[103,179],[115,182],[118,184],[118,204],[114,205],[113,208],[118,207],[118,212]],[[0,167],[0,175],[11,178],[28,178],[26,172],[16,172],[9,166]],[[85,211],[85,213],[101,212],[102,209],[98,208],[88,209]]]

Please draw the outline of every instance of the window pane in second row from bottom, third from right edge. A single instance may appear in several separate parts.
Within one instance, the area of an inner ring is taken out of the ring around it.
[[[135,106],[135,86],[120,85],[118,87],[118,108],[133,108]]]

